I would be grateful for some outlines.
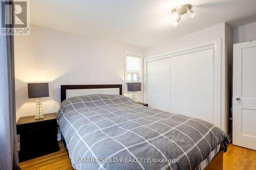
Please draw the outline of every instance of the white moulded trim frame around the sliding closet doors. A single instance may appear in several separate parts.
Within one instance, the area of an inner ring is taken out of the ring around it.
[[[144,103],[147,103],[147,62],[160,60],[178,55],[189,54],[197,51],[202,51],[209,48],[209,45],[214,47],[214,70],[213,70],[213,123],[219,128],[224,128],[221,122],[221,38],[208,41],[202,44],[192,45],[177,50],[172,50],[164,53],[159,53],[144,57]]]

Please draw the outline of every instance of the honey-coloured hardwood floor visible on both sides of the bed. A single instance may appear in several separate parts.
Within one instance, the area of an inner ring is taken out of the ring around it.
[[[73,169],[63,143],[59,145],[60,151],[21,162],[20,167],[24,170]],[[224,170],[256,170],[256,151],[230,144],[223,162]]]

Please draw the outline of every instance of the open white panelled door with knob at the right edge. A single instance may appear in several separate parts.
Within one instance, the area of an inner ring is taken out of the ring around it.
[[[233,144],[256,150],[256,41],[234,44]]]

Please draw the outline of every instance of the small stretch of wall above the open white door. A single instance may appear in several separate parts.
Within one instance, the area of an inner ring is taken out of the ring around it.
[[[233,28],[233,43],[256,40],[256,22]]]

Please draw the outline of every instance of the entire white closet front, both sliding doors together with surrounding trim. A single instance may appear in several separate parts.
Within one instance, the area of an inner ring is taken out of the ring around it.
[[[221,124],[221,40],[145,57],[144,101]]]

